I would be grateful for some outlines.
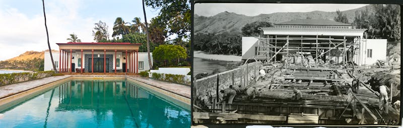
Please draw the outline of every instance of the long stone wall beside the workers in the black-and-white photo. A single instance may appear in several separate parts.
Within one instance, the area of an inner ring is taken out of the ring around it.
[[[218,91],[228,88],[230,85],[241,85],[242,87],[253,82],[251,79],[256,78],[259,75],[259,68],[262,65],[261,62],[247,63],[246,65],[239,66],[236,69],[226,71],[223,73],[215,74],[205,78],[201,78],[194,81],[194,98],[206,95],[215,97],[217,93],[217,76],[218,76]],[[232,79],[234,78],[234,79]],[[221,94],[219,94],[221,95]]]

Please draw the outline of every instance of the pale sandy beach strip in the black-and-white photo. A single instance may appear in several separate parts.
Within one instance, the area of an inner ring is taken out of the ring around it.
[[[241,61],[242,56],[237,55],[222,55],[222,54],[207,54],[203,51],[194,51],[193,57],[211,59],[211,60],[223,60],[223,61]]]

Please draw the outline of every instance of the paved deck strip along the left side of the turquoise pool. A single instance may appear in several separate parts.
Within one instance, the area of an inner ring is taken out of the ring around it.
[[[26,82],[20,82],[16,84],[11,84],[11,85],[5,85],[0,87],[0,99],[24,92],[42,85],[46,85],[58,80],[62,80],[65,78],[71,77],[70,75],[65,75],[65,76],[54,76],[54,77],[47,77],[47,78],[42,78],[38,80],[33,80],[33,81],[26,81]]]

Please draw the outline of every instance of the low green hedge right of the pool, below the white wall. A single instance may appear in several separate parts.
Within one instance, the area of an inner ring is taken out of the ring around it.
[[[156,80],[190,86],[190,81],[186,80],[185,75],[152,73],[152,78]]]

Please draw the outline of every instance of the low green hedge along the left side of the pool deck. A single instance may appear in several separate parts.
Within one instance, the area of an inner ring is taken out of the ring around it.
[[[50,77],[54,71],[0,74],[0,86]]]

